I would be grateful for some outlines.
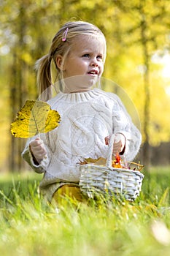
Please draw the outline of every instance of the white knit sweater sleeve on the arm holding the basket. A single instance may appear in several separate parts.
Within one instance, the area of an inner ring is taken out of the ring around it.
[[[142,143],[142,135],[133,124],[125,106],[117,95],[114,96],[112,109],[113,133],[121,133],[125,136],[125,151],[123,157],[131,161],[136,157]]]

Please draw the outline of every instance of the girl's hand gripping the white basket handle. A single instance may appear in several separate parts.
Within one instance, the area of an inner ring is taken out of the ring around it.
[[[111,135],[105,138],[106,145],[109,145],[110,137]],[[115,135],[115,141],[113,144],[113,154],[116,154],[116,153],[123,154],[124,151],[125,151],[125,136],[121,133],[117,133]]]

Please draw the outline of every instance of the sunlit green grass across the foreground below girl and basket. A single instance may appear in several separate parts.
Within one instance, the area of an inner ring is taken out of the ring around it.
[[[91,200],[59,212],[37,192],[42,176],[0,177],[1,255],[170,255],[169,167],[144,170],[140,197]]]

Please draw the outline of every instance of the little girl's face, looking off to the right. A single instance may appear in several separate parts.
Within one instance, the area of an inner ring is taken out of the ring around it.
[[[81,82],[86,80],[88,83],[75,91],[87,91],[98,81],[103,71],[104,40],[95,36],[77,36],[63,64],[63,78],[81,76]]]

